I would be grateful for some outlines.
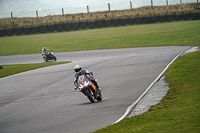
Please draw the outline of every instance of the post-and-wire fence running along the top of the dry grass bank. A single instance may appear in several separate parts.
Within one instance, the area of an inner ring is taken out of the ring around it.
[[[76,13],[88,13],[88,12],[99,12],[99,11],[114,11],[114,10],[126,10],[132,8],[138,8],[142,6],[165,6],[174,4],[185,4],[185,3],[198,3],[198,0],[149,0],[149,2],[144,3],[138,0],[130,2],[118,2],[118,3],[108,3],[108,4],[98,4],[98,5],[77,5],[69,6],[66,8],[52,8],[52,9],[38,9],[35,11],[23,11],[23,12],[3,12],[0,13],[0,18],[10,18],[10,17],[44,17],[53,15],[63,15],[63,14],[76,14]]]

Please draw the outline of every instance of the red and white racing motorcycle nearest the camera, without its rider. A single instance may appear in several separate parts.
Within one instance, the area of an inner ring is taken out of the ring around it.
[[[97,101],[102,100],[101,91],[97,91],[96,86],[90,81],[89,74],[79,76],[77,83],[79,91],[87,96],[91,103],[94,103],[95,99]]]

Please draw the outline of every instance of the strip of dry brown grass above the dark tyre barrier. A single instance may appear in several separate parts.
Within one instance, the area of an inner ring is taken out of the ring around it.
[[[185,14],[200,12],[195,8],[200,3],[177,4],[169,6],[146,6],[130,10],[116,10],[92,13],[65,14],[39,18],[4,18],[0,19],[0,29],[27,28],[41,25],[54,25],[62,23],[92,22],[98,20],[126,19],[147,16],[160,16],[172,14]]]

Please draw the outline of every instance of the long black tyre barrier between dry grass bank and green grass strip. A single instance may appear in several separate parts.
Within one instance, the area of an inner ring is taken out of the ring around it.
[[[39,27],[28,27],[28,28],[15,28],[15,29],[3,29],[0,30],[0,37],[22,35],[22,34],[37,34],[37,33],[46,33],[46,32],[61,32],[86,29],[86,28],[102,28],[110,26],[123,26],[123,25],[133,25],[133,24],[149,24],[157,22],[171,22],[171,21],[180,21],[180,20],[200,20],[200,13],[188,13],[180,15],[164,15],[164,16],[153,16],[153,17],[136,17],[128,19],[112,19],[112,20],[98,20],[94,22],[77,22],[77,23],[64,23],[57,25],[43,25]]]

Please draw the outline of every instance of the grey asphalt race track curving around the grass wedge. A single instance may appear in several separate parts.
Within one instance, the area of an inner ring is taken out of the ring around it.
[[[190,47],[149,47],[55,53],[72,63],[0,79],[1,133],[88,133],[116,122],[162,70]],[[0,64],[43,62],[41,54],[0,56]],[[73,67],[92,71],[103,100],[90,103],[73,88]]]

